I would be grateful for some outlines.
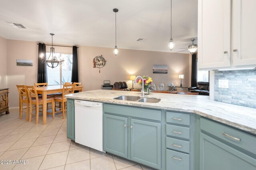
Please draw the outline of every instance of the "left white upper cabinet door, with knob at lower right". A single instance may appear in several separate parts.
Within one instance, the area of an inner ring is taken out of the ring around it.
[[[198,68],[230,66],[231,0],[198,0]]]

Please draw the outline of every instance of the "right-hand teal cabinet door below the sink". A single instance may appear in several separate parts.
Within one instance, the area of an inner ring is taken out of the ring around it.
[[[131,119],[131,160],[161,168],[161,124]]]

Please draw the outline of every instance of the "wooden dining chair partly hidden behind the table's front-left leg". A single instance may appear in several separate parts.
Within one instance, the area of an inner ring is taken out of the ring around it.
[[[29,98],[29,104],[30,104],[30,113],[29,113],[29,121],[31,122],[32,114],[36,115],[36,124],[38,124],[38,118],[39,118],[39,105],[43,104],[43,99],[38,98],[38,94],[36,91],[36,86],[25,86],[25,90],[28,94]],[[52,119],[54,119],[54,108],[55,108],[55,102],[53,97],[47,97],[46,103],[52,103],[52,113],[46,112],[47,114],[52,115]],[[36,113],[32,113],[32,105],[36,106]]]

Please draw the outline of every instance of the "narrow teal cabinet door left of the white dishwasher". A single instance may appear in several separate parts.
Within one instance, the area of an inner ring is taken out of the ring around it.
[[[67,100],[67,137],[75,140],[75,107],[74,100]]]

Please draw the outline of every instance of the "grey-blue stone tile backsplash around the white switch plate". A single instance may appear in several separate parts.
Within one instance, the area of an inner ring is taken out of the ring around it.
[[[218,80],[228,80],[228,88],[218,88]],[[214,100],[256,108],[256,69],[215,71]]]

